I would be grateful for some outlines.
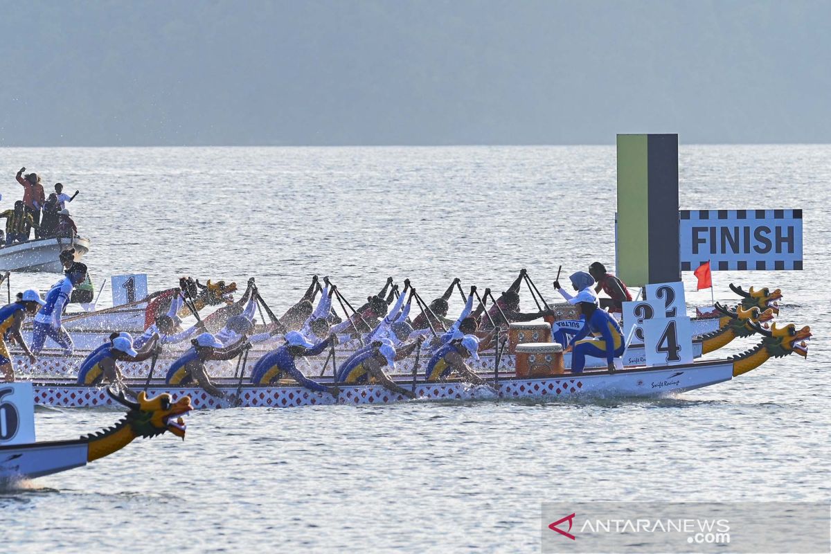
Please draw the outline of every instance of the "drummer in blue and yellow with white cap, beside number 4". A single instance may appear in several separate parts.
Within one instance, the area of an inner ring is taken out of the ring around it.
[[[614,359],[621,357],[623,351],[626,350],[621,327],[614,317],[594,302],[578,302],[577,306],[581,314],[585,316],[586,322],[583,324],[583,329],[574,336],[571,346],[565,349],[567,352],[572,352],[571,372],[583,373],[587,355],[606,358],[608,370],[614,371]],[[590,334],[596,337],[587,339],[586,337]]]

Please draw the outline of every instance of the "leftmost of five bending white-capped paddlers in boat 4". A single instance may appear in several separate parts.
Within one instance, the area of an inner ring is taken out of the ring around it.
[[[135,392],[124,383],[124,376],[116,362],[119,361],[144,361],[151,355],[159,353],[158,336],[148,341],[140,351],[135,350],[133,339],[129,333],[119,333],[113,336],[110,344],[99,346],[92,351],[86,359],[81,362],[78,368],[78,385],[101,385],[111,383],[118,385],[130,395]]]

